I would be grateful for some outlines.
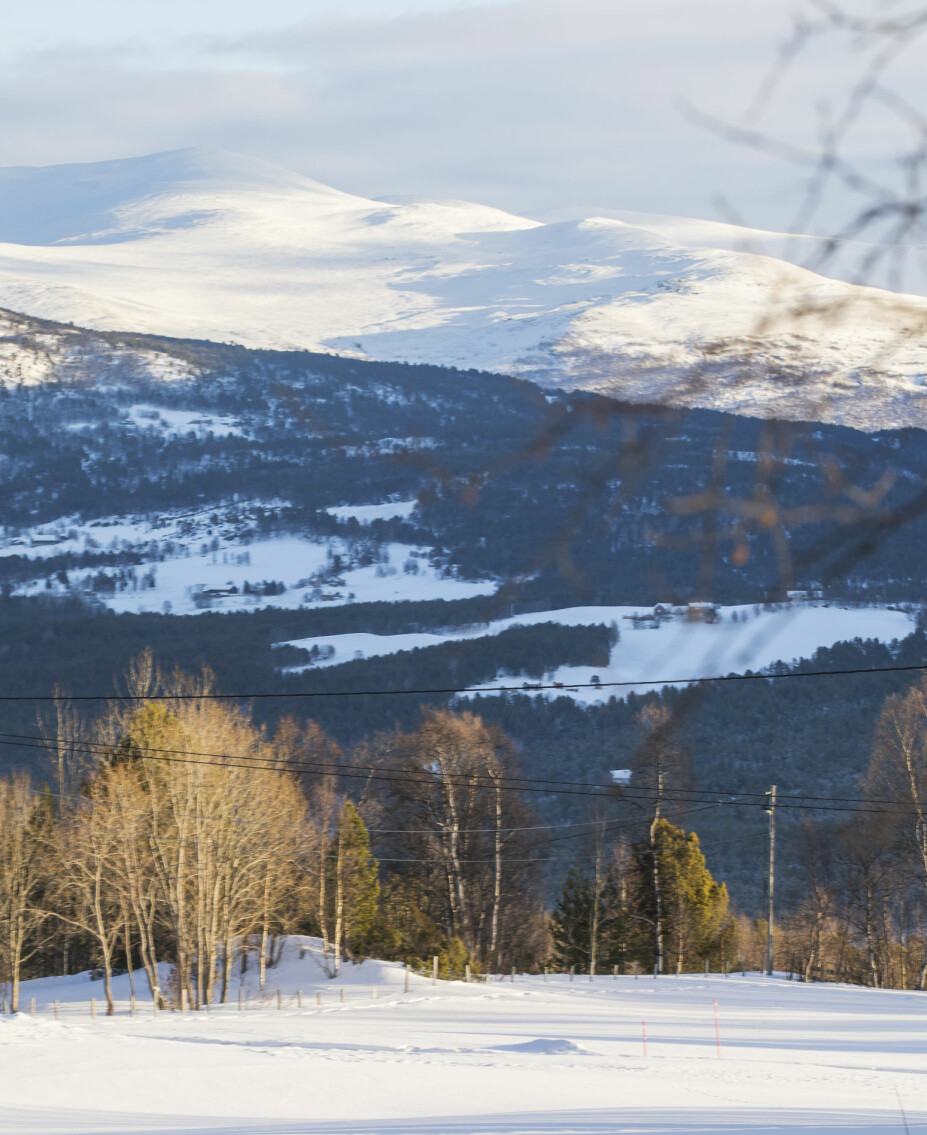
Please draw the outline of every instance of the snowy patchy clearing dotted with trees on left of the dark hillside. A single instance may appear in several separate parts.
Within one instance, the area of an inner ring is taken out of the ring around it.
[[[407,516],[414,504],[343,505],[330,511],[365,524]],[[279,512],[286,506],[281,501],[238,502],[161,516],[86,522],[65,516],[24,532],[0,532],[0,556],[22,556],[35,564],[34,577],[16,589],[17,595],[93,594],[111,611],[134,613],[189,615],[208,609],[469,599],[491,595],[498,586],[494,580],[446,577],[431,562],[431,550],[415,545],[384,544],[379,562],[362,565],[349,539],[245,535],[256,508]],[[132,553],[141,563],[130,569],[76,568],[65,583],[58,573],[49,575],[43,564],[64,553]],[[101,572],[110,577],[111,588],[99,586]],[[283,589],[264,589],[267,583],[281,583]]]

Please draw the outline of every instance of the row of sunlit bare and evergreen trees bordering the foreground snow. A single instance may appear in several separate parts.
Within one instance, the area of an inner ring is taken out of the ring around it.
[[[263,985],[281,936],[317,935],[327,973],[366,956],[446,976],[542,966],[759,968],[766,925],[738,915],[677,821],[685,755],[658,701],[639,712],[634,793],[545,824],[514,742],[427,708],[345,751],[318,723],[254,722],[208,672],[150,653],[93,721],[43,721],[48,782],[0,780],[0,982],[141,972],[165,1007]],[[205,696],[203,696],[205,695]],[[927,679],[885,704],[863,796],[807,818],[775,961],[804,980],[927,987]],[[556,789],[551,787],[551,791]],[[563,829],[566,829],[565,831]],[[556,868],[572,866],[550,893]]]

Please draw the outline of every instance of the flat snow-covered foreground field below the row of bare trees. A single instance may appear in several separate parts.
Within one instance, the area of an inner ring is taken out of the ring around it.
[[[302,959],[298,944],[290,940],[269,972],[263,998],[254,974],[246,976],[241,1012],[236,984],[231,1003],[209,1014],[155,1018],[136,975],[137,1015],[128,1015],[123,976],[116,1016],[92,1020],[90,998],[99,1012],[101,982],[83,974],[26,983],[35,1018],[0,1018],[0,1130],[896,1135],[905,1124],[927,1130],[921,993],[757,974],[593,982],[519,975],[471,985],[432,985],[413,975],[406,993],[401,966],[366,961],[329,981],[314,940],[302,940],[310,948]]]

